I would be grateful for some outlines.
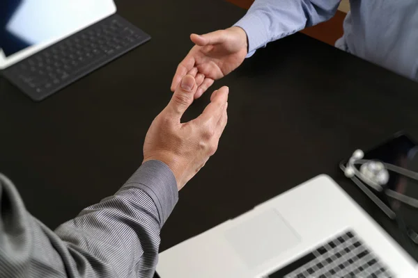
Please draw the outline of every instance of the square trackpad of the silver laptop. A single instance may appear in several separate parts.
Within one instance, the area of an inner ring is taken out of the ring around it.
[[[249,268],[256,268],[300,242],[300,236],[274,209],[238,224],[225,236]]]

